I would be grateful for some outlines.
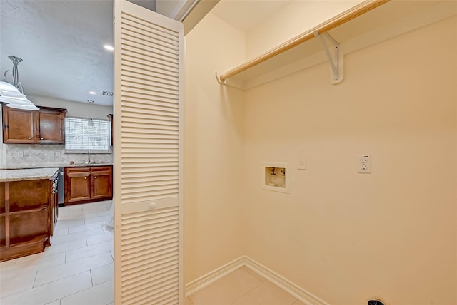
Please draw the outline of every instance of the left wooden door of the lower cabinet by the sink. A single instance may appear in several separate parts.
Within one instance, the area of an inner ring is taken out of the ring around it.
[[[90,167],[65,169],[65,202],[79,202],[91,199]]]

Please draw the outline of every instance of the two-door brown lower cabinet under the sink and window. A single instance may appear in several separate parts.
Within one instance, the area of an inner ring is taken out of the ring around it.
[[[66,167],[65,205],[74,205],[113,197],[112,166]]]

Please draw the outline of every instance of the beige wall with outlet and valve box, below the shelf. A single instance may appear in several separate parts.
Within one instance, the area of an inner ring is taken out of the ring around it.
[[[457,304],[456,29],[350,53],[336,86],[325,63],[246,91],[249,257],[329,304]],[[261,188],[263,162],[291,163],[290,194]]]

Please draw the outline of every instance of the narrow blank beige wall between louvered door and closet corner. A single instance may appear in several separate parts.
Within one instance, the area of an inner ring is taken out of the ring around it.
[[[186,36],[184,282],[241,256],[243,92],[216,82],[244,35],[209,14]]]

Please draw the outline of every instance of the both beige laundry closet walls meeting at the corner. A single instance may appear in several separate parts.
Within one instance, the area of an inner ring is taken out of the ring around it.
[[[246,254],[329,304],[457,304],[456,29],[349,53],[336,86],[322,63],[243,92],[214,73],[255,43],[206,16],[186,37],[185,283]],[[291,164],[290,194],[261,188],[263,162]]]

